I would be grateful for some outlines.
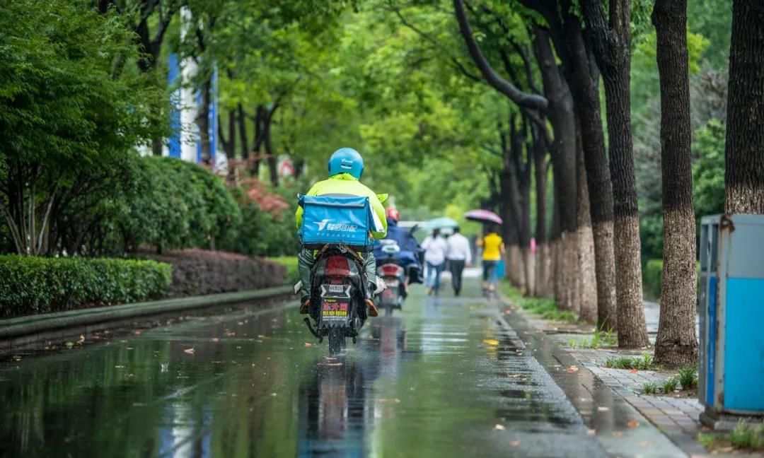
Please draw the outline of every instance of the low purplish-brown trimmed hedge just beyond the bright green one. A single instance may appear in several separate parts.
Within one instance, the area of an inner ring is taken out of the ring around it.
[[[190,249],[151,257],[172,264],[172,297],[279,286],[286,274],[280,263],[224,251]]]

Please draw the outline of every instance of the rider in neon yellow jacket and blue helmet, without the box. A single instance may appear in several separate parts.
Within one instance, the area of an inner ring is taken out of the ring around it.
[[[340,148],[329,158],[329,179],[317,182],[306,195],[356,195],[369,198],[371,210],[374,213],[374,226],[381,231],[372,231],[374,239],[384,238],[387,234],[385,209],[377,194],[359,181],[364,173],[364,159],[358,151],[352,148]],[[303,224],[303,208],[298,207],[295,214],[297,227]],[[372,299],[377,289],[377,265],[374,253],[361,253],[364,258],[364,273],[367,282],[366,304],[369,316],[377,316],[377,307]],[[316,263],[316,253],[304,247],[297,256],[299,278],[303,282],[300,289],[301,299],[299,313],[307,314],[310,308],[310,271]]]

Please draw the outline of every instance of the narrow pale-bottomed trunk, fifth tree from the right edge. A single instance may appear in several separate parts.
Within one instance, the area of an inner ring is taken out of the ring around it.
[[[579,298],[578,318],[589,323],[597,322],[597,274],[594,264],[594,234],[591,230],[589,211],[589,190],[587,187],[584,150],[581,147],[581,135],[576,136],[578,169],[578,276]]]

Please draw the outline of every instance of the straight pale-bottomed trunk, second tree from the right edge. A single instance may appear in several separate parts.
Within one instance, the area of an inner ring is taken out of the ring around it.
[[[679,366],[698,360],[687,0],[657,0],[652,24],[658,36],[663,180],[663,279],[656,363]]]

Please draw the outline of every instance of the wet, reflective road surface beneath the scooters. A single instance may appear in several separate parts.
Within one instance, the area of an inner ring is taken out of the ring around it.
[[[330,359],[296,308],[0,365],[2,456],[605,456],[497,306],[426,298]]]

